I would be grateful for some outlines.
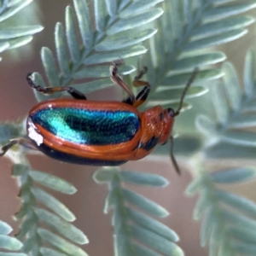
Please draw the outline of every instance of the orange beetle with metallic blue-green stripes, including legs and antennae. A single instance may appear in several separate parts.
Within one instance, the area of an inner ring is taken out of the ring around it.
[[[32,89],[46,95],[67,91],[73,98],[51,99],[35,105],[26,121],[29,139],[12,140],[2,148],[0,156],[19,143],[27,148],[37,148],[55,160],[82,165],[119,166],[129,160],[143,159],[157,144],[165,144],[169,140],[174,119],[196,73],[192,73],[186,84],[176,111],[155,106],[140,113],[137,107],[145,102],[150,91],[150,84],[141,80],[146,72],[144,67],[134,79],[134,86],[143,86],[143,90],[134,96],[119,76],[118,67],[110,66],[113,83],[129,95],[123,102],[88,101],[73,87],[44,88],[34,84],[32,73],[29,73],[26,79]],[[171,157],[179,172],[172,149]]]

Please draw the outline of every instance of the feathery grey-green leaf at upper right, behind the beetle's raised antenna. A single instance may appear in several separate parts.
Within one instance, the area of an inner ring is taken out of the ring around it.
[[[231,3],[230,3],[231,2]],[[143,65],[148,67],[148,81],[154,84],[148,106],[173,105],[195,67],[200,67],[188,97],[207,91],[203,81],[219,79],[224,72],[210,65],[224,61],[224,53],[207,49],[241,38],[246,26],[254,22],[243,12],[256,7],[255,1],[166,0],[165,13],[155,21],[157,37],[150,39],[149,54]],[[210,67],[209,67],[210,66]],[[184,104],[184,108],[189,108]]]

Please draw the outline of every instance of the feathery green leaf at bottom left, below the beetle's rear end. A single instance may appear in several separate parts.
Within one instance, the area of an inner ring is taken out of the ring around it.
[[[60,177],[31,170],[27,165],[16,164],[13,174],[20,179],[21,209],[15,218],[22,220],[17,236],[24,243],[21,251],[29,255],[86,256],[87,253],[74,245],[88,241],[81,230],[70,224],[75,219],[73,213],[61,201],[44,189],[39,189],[34,183],[66,195],[76,192],[73,185]]]

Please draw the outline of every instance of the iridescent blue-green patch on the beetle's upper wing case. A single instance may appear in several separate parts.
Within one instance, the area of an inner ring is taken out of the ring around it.
[[[45,108],[34,113],[31,119],[56,137],[86,145],[125,143],[141,127],[136,113],[123,110]]]

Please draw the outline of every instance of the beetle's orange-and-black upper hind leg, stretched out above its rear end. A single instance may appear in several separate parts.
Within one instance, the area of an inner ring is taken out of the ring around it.
[[[34,84],[32,81],[32,73],[29,73],[26,76],[27,83],[32,87],[32,89],[38,90],[46,95],[53,94],[59,91],[67,91],[73,98],[78,100],[86,100],[86,97],[79,90],[74,89],[73,87],[42,87],[41,85]]]

